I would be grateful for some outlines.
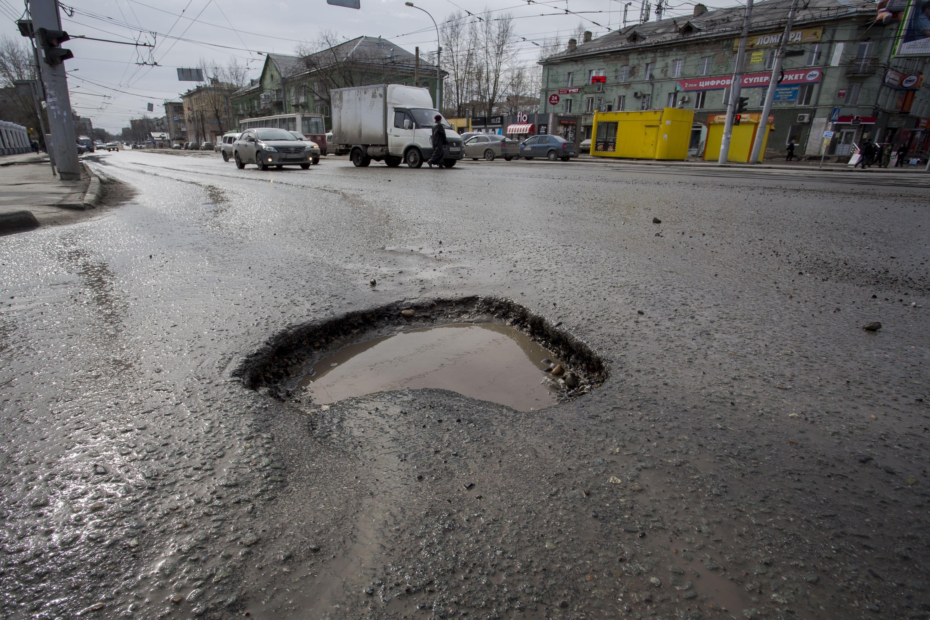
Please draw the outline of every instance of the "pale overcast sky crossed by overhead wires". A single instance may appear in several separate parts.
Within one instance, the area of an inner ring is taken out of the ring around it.
[[[7,17],[17,17],[22,10],[20,1],[0,0],[0,11]],[[355,10],[329,6],[326,0],[63,0],[63,7],[74,9],[71,17],[62,14],[64,29],[72,36],[85,34],[155,44],[153,50],[140,47],[137,51],[134,46],[69,41],[66,46],[74,54],[74,59],[66,61],[72,105],[77,113],[91,117],[95,126],[119,133],[129,118],[146,113],[147,103],[155,106],[150,115],[164,115],[164,101],[178,99],[179,93],[193,86],[178,81],[178,67],[195,66],[201,58],[215,59],[222,65],[236,57],[247,62],[252,70],[250,77],[258,77],[264,61],[259,52],[293,53],[295,46],[314,39],[321,29],[335,31],[346,39],[380,35],[411,52],[420,46],[421,53],[434,53],[436,34],[432,21],[422,11],[405,7],[404,1],[361,0],[362,9]],[[510,12],[517,18],[517,33],[537,43],[557,35],[565,42],[579,22],[595,36],[606,33],[605,28],[588,20],[617,28],[625,5],[622,0],[545,0],[538,4],[526,0],[416,2],[440,23],[458,7],[491,19]],[[689,15],[693,4],[673,0],[674,8],[666,15]],[[735,2],[718,0],[712,4]],[[566,15],[565,8],[578,15]],[[637,2],[630,7],[629,19],[638,17],[639,11]],[[9,33],[16,33],[11,21],[7,25]],[[153,36],[153,32],[157,34]],[[167,38],[166,34],[188,40]],[[521,42],[519,50],[526,62],[538,59],[539,48],[532,43]],[[152,60],[159,66],[137,64]]]

